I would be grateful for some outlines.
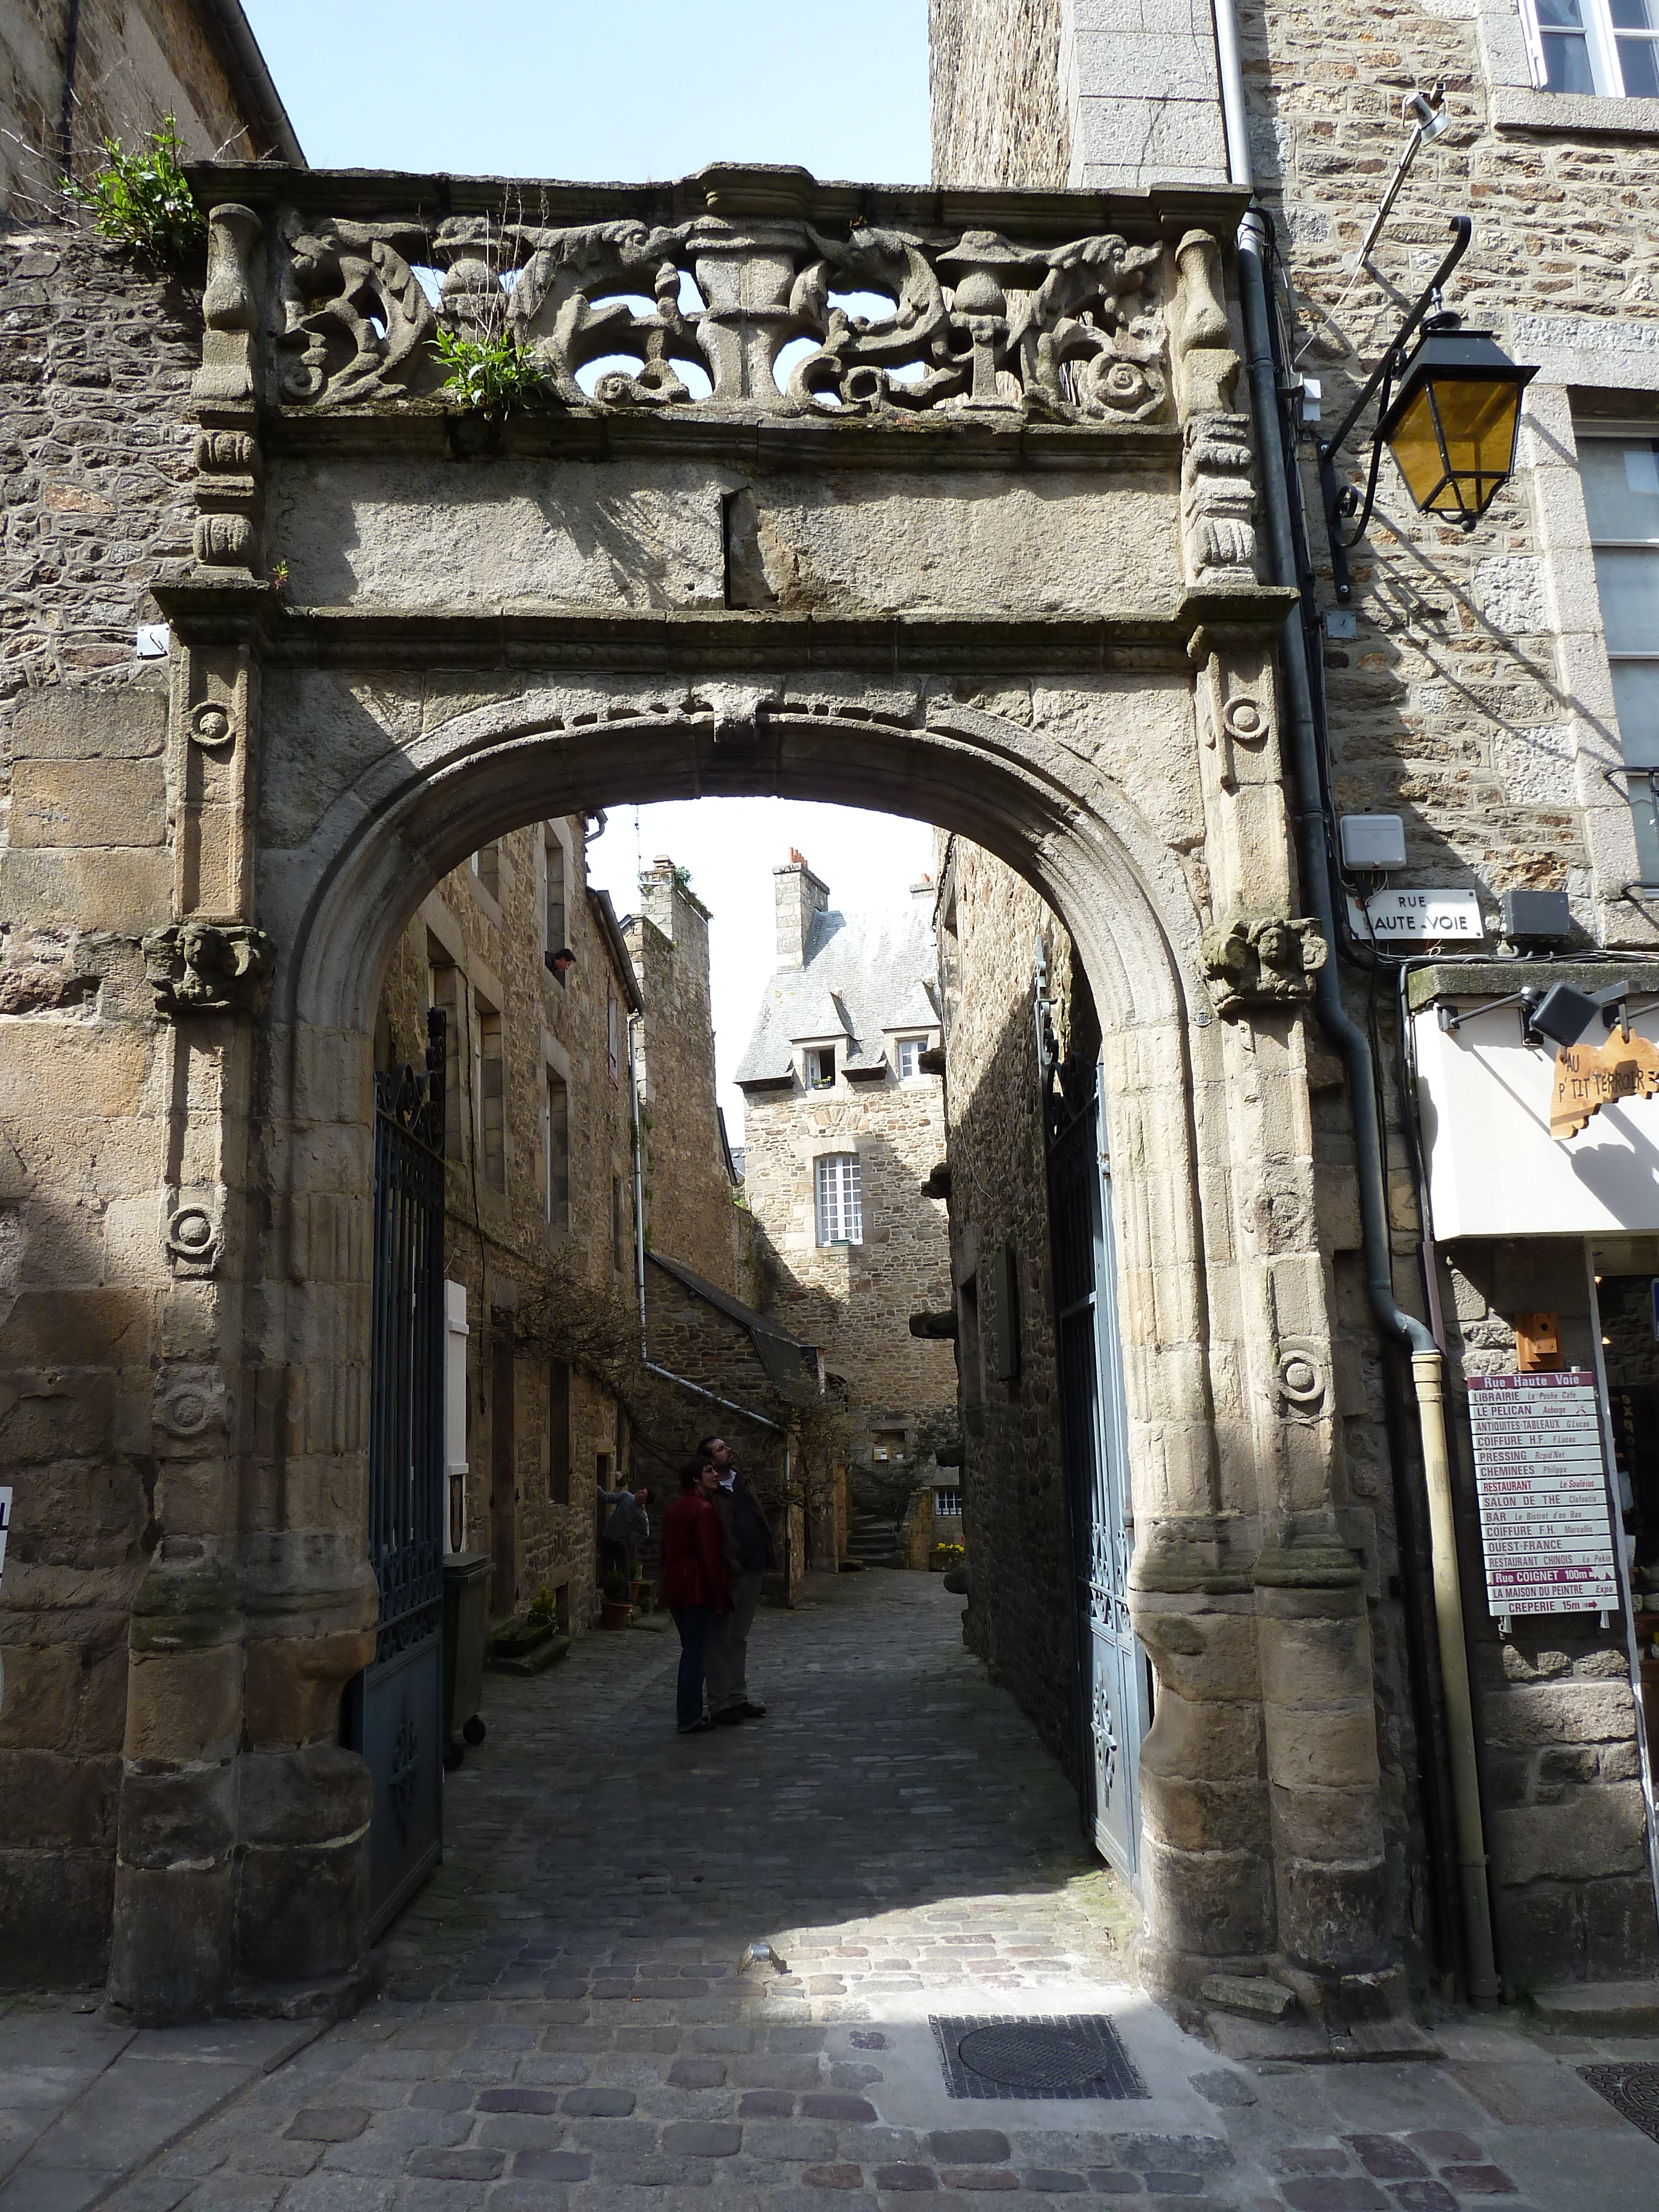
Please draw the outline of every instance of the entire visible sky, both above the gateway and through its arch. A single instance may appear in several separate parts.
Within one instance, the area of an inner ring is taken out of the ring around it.
[[[927,0],[243,0],[314,168],[493,177],[684,177],[799,161],[816,177],[927,184]],[[588,852],[637,905],[633,807]],[[772,973],[772,869],[796,845],[843,911],[905,902],[931,832],[852,807],[699,799],[641,807],[639,849],[690,867],[710,907],[714,1040],[730,1075]]]

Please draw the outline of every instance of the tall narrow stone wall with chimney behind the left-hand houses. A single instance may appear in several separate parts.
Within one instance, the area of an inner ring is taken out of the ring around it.
[[[714,1110],[708,909],[659,858],[639,878],[644,911],[624,931],[646,1002],[639,1130],[646,1248],[748,1296],[739,1283],[737,1208]]]

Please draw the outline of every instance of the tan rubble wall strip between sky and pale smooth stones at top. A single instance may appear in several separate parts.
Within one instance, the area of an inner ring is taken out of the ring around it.
[[[1066,181],[1060,0],[929,0],[938,184]]]

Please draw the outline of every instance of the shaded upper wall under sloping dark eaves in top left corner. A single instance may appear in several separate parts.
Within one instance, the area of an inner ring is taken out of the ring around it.
[[[62,0],[7,0],[0,40],[0,210],[51,190],[64,97]],[[217,33],[192,0],[82,0],[73,164],[86,177],[104,137],[126,146],[173,115],[195,161],[257,161],[270,135],[230,82]]]

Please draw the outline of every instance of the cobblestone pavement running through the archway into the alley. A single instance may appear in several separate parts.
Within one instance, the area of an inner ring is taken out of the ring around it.
[[[104,2201],[1659,2212],[1659,2146],[1577,2073],[1652,2044],[1464,2015],[1442,2062],[1292,2066],[1183,2035],[1128,1986],[1124,1898],[958,1615],[929,1575],[814,1586],[757,1624],[768,1719],[697,1739],[672,1632],[491,1679],[387,1995]],[[1117,2022],[1146,2097],[947,2097],[929,2015],[1075,2013]]]

